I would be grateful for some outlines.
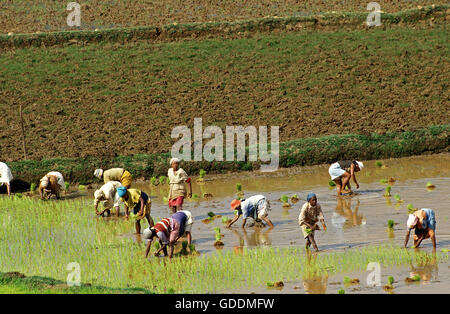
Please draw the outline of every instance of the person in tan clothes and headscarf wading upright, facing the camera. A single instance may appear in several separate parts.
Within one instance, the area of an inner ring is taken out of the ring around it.
[[[323,229],[327,230],[322,208],[317,203],[316,194],[308,193],[306,196],[306,203],[303,204],[303,207],[300,210],[300,215],[298,216],[298,224],[302,228],[303,237],[306,239],[306,249],[309,249],[312,244],[316,252],[319,251],[319,249],[317,248],[316,241],[314,240],[314,231],[320,230],[317,225],[319,220],[322,223]]]

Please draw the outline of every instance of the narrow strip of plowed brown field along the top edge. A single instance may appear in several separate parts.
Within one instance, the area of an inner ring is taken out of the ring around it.
[[[2,0],[0,33],[71,30],[67,4],[71,1]],[[308,15],[347,11],[368,12],[368,0],[78,0],[81,29],[161,26],[170,23],[237,21],[265,16]],[[433,0],[376,1],[388,13],[431,4]]]

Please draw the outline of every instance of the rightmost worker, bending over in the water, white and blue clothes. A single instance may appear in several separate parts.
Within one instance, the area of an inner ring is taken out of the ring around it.
[[[405,247],[408,245],[409,234],[414,229],[414,247],[420,246],[424,239],[431,238],[433,247],[436,248],[436,218],[434,211],[429,208],[422,208],[410,214],[406,222]]]

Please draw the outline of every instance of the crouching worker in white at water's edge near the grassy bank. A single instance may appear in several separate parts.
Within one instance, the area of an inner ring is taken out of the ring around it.
[[[331,180],[336,183],[338,195],[352,193],[350,189],[350,178],[353,178],[356,188],[359,189],[359,184],[358,181],[356,181],[355,173],[361,171],[363,167],[364,164],[357,160],[341,160],[330,166],[328,173],[331,176]],[[349,191],[344,192],[344,188],[346,186],[348,186]]]

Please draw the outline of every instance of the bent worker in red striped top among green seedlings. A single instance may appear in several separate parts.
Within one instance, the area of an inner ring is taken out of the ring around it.
[[[143,238],[148,240],[147,248],[145,250],[145,257],[147,257],[150,252],[153,238],[157,237],[161,247],[155,252],[155,256],[159,256],[161,251],[163,251],[164,255],[167,256],[167,246],[169,246],[169,258],[172,258],[175,243],[184,235],[184,233],[186,233],[188,245],[191,244],[191,230],[193,223],[194,218],[192,217],[191,212],[182,210],[176,212],[169,218],[162,219],[153,227],[148,227],[145,229]]]

